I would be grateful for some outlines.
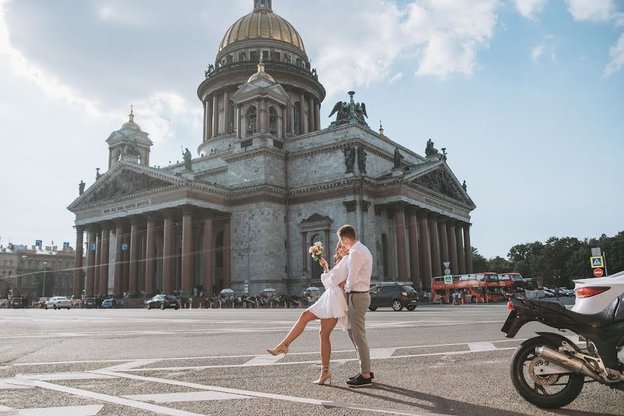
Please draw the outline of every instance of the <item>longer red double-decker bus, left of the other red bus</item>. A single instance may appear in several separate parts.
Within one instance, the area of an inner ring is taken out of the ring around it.
[[[431,279],[434,302],[452,303],[453,295],[459,293],[459,300],[465,303],[498,302],[503,300],[496,273],[474,273],[454,275],[452,284],[444,283],[444,276]],[[456,298],[457,299],[457,298]]]

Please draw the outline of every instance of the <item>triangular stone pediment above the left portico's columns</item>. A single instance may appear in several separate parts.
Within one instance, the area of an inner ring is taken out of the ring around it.
[[[103,175],[98,182],[74,201],[68,209],[74,211],[98,202],[133,196],[138,193],[169,187],[180,182],[181,180],[170,179],[165,175],[155,175],[155,173],[142,170],[140,167],[119,166],[115,171],[109,171]]]

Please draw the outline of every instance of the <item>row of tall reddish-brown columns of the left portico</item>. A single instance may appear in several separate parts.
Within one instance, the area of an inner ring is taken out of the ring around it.
[[[74,296],[229,288],[230,235],[229,214],[192,206],[77,225]]]

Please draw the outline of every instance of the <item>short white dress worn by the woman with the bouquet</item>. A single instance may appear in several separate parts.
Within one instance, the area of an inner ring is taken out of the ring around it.
[[[314,313],[317,318],[338,318],[338,322],[348,326],[348,306],[344,290],[338,284],[346,280],[348,269],[346,258],[338,262],[329,273],[321,275],[321,281],[325,286],[325,293],[319,297],[307,310]]]

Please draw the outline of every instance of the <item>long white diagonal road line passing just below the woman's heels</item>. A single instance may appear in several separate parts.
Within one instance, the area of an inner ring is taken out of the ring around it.
[[[98,372],[98,371],[95,371],[95,372],[98,373],[98,374],[108,374],[108,375],[112,375],[112,376],[119,376],[119,377],[126,378],[126,379],[134,379],[134,380],[142,380],[142,381],[152,381],[153,383],[178,385],[178,386],[183,386],[183,387],[187,387],[187,388],[196,388],[198,390],[210,390],[210,391],[214,391],[214,392],[231,393],[233,395],[244,395],[244,396],[251,396],[251,397],[260,397],[260,398],[263,398],[263,399],[276,399],[276,400],[283,400],[283,401],[292,401],[294,403],[317,404],[319,406],[328,406],[328,407],[346,408],[346,409],[356,409],[356,410],[369,410],[369,411],[372,411],[372,412],[388,413],[388,414],[391,414],[391,415],[441,416],[441,415],[436,415],[435,413],[419,413],[419,412],[415,412],[413,410],[400,410],[400,409],[393,409],[393,408],[382,408],[382,407],[377,407],[377,406],[362,406],[360,404],[344,403],[344,402],[340,402],[340,401],[326,401],[326,400],[319,400],[319,399],[307,399],[305,397],[275,395],[275,394],[272,394],[272,393],[252,392],[252,391],[249,391],[249,390],[238,390],[238,389],[234,389],[234,388],[223,388],[223,387],[217,387],[217,386],[212,386],[212,385],[203,385],[203,384],[198,384],[198,383],[188,383],[186,381],[176,381],[176,380],[170,380],[170,379],[158,379],[158,378],[155,378],[155,377],[137,376],[135,374],[121,374],[121,373]]]

